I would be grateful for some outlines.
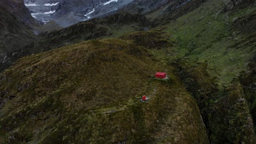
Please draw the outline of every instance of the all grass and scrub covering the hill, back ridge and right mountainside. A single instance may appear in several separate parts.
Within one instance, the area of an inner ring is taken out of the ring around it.
[[[30,50],[50,51],[0,74],[0,141],[255,143],[255,4],[170,2],[154,22],[118,14],[45,34]]]

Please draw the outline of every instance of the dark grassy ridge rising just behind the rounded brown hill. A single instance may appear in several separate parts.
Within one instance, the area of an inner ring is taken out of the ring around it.
[[[104,18],[92,19],[90,21],[80,22],[73,26],[49,32],[44,26],[36,28],[39,31],[40,39],[31,41],[22,47],[22,50],[16,50],[7,54],[10,63],[18,58],[56,49],[62,46],[82,42],[84,40],[117,38],[124,33],[138,31],[148,27],[150,22],[143,15],[139,14],[115,14]],[[15,53],[15,55],[13,55]],[[10,63],[3,63],[0,70],[9,67]]]

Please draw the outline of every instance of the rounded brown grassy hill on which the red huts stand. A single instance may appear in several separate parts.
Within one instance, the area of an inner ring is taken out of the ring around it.
[[[167,71],[170,80],[153,79],[155,71]],[[125,40],[21,58],[0,83],[3,142],[208,143],[176,69]],[[151,95],[147,103],[143,94]]]

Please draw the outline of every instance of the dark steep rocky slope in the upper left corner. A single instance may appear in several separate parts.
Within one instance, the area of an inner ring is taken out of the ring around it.
[[[26,9],[23,1],[0,1],[0,69],[9,64],[8,55],[36,40],[33,26],[37,22]]]

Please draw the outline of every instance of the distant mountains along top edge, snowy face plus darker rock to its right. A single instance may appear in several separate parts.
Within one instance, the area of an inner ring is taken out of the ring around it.
[[[49,21],[60,27],[68,27],[80,21],[104,17],[114,13],[146,14],[159,9],[167,3],[174,3],[173,8],[179,7],[190,0],[182,1],[142,1],[142,0],[25,0],[24,3],[31,15],[46,24]]]

